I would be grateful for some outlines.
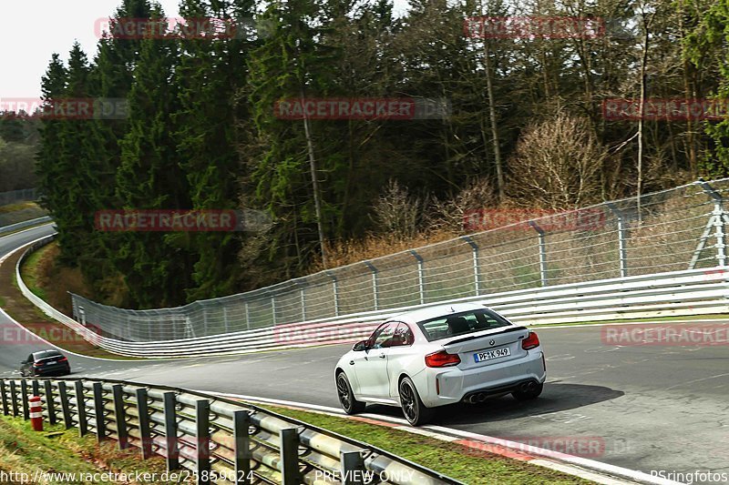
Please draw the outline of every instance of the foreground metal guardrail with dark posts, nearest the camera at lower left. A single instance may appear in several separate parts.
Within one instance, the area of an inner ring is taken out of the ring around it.
[[[462,482],[357,440],[297,419],[210,394],[121,380],[0,379],[5,416],[28,419],[28,399],[43,415],[98,441],[153,454],[169,471],[189,470],[199,484],[283,485]]]

